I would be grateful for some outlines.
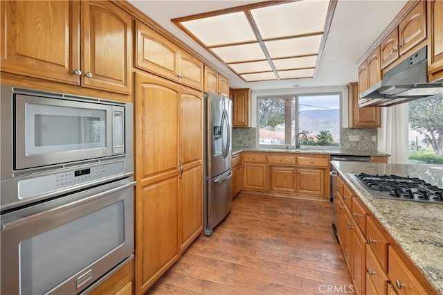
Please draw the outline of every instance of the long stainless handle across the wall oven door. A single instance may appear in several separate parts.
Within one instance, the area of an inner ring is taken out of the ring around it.
[[[102,197],[105,197],[106,195],[111,195],[111,194],[119,192],[120,190],[125,190],[127,188],[132,187],[132,186],[135,186],[136,183],[137,183],[137,181],[132,181],[129,184],[123,184],[123,186],[118,186],[117,188],[111,188],[110,190],[105,190],[102,193],[98,193],[96,195],[91,195],[90,197],[85,197],[83,199],[79,199],[78,201],[71,202],[69,204],[64,204],[62,206],[51,208],[49,210],[42,211],[40,213],[33,214],[30,216],[21,217],[21,218],[19,217],[17,220],[14,220],[12,222],[7,222],[6,224],[3,224],[3,222],[1,222],[1,231],[8,231],[10,229],[16,228],[17,226],[21,226],[21,225],[29,223],[29,222],[35,222],[37,220],[41,220],[42,218],[47,217],[49,215],[54,215],[55,213],[61,213],[63,211],[70,210],[70,209],[75,208],[77,206],[87,204],[87,203],[92,202],[96,199],[100,199]]]

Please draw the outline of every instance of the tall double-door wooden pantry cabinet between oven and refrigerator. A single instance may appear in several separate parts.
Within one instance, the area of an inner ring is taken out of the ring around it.
[[[145,292],[203,229],[203,93],[136,73],[136,289]]]

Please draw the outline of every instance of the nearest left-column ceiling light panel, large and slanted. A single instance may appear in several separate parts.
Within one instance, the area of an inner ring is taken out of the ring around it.
[[[206,46],[257,41],[242,11],[183,21],[181,25]]]

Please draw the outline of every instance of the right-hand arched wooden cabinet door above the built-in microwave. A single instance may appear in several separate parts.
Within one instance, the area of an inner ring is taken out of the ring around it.
[[[131,93],[131,15],[109,1],[81,3],[82,85]]]

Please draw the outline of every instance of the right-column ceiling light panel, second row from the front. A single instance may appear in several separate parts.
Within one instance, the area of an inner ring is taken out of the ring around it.
[[[317,54],[322,35],[264,42],[271,58]]]

